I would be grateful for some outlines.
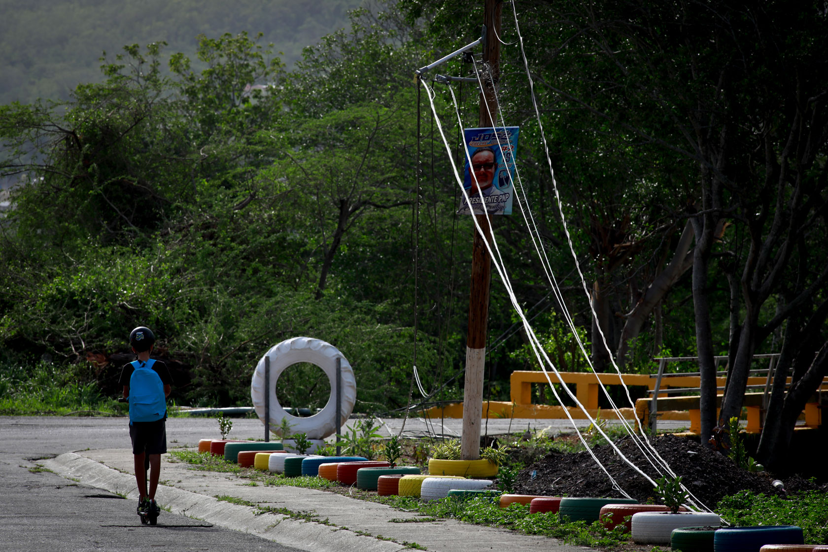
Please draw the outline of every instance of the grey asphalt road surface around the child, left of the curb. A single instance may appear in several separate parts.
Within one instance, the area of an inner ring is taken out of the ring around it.
[[[215,420],[167,424],[171,447],[219,437]],[[234,420],[233,433],[259,437],[261,428],[258,420]],[[0,417],[0,550],[299,550],[164,511],[157,526],[142,526],[136,501],[37,467],[39,458],[113,447],[130,447],[126,418]]]

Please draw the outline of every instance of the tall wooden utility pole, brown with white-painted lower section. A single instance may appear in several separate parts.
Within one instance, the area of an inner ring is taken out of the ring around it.
[[[486,42],[483,49],[482,73],[484,89],[480,93],[480,127],[496,126],[497,101],[495,87],[500,74],[500,13],[502,0],[484,0]],[[492,114],[492,117],[489,116]],[[495,121],[492,120],[495,118]],[[489,280],[492,258],[486,249],[491,242],[492,229],[485,214],[474,215],[483,231],[474,229],[471,257],[471,293],[469,295],[469,337],[466,344],[465,394],[463,398],[463,435],[461,458],[480,458],[480,421],[483,416],[483,378],[486,361],[486,334],[489,325]],[[485,241],[484,241],[485,240]]]

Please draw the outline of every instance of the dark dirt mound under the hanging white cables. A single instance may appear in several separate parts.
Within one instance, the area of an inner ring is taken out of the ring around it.
[[[740,491],[776,493],[768,473],[749,473],[730,458],[701,446],[692,439],[662,435],[650,439],[658,454],[667,462],[693,495],[705,506],[713,508],[722,497]],[[644,473],[656,480],[661,477],[647,461],[632,438],[616,441],[616,446]],[[613,476],[625,492],[647,502],[656,498],[652,483],[632,468],[609,445],[592,449],[600,463]],[[803,478],[787,478],[788,492],[816,489],[818,486]],[[568,497],[611,497],[621,498],[623,494],[614,489],[604,473],[588,452],[575,454],[556,453],[546,455],[542,460],[522,469],[517,477],[515,492]]]

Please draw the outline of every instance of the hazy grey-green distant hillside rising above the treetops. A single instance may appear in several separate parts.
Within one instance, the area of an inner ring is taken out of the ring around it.
[[[194,57],[196,36],[263,33],[287,65],[305,46],[347,26],[361,0],[0,1],[0,103],[65,99],[80,83],[100,82],[103,51],[166,41],[166,54]]]

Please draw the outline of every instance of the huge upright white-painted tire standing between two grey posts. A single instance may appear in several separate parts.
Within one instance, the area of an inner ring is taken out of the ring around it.
[[[250,382],[250,397],[253,399],[253,408],[259,420],[264,423],[264,362],[270,358],[270,427],[272,430],[287,419],[291,425],[291,433],[306,434],[307,439],[325,439],[336,433],[336,358],[342,358],[342,407],[339,420],[342,423],[348,420],[354,411],[354,402],[357,398],[357,382],[354,370],[342,353],[330,343],[315,338],[291,338],[274,345],[256,365],[253,380]],[[288,414],[279,404],[276,396],[276,382],[286,368],[297,362],[310,362],[322,369],[330,382],[330,398],[325,407],[309,418],[297,418]]]

